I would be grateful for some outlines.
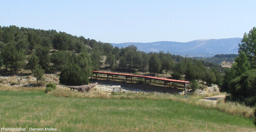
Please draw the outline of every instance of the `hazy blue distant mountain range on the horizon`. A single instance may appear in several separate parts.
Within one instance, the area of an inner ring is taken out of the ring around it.
[[[119,43],[113,46],[127,47],[129,45],[137,46],[138,50],[144,52],[170,52],[175,55],[188,55],[198,57],[210,57],[215,54],[236,54],[238,53],[238,44],[242,38],[234,37],[230,39],[209,39],[195,40],[190,42],[170,42],[159,41],[152,43]]]

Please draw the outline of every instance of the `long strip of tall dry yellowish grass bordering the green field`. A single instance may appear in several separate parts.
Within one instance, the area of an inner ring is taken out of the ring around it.
[[[134,100],[172,100],[177,102],[184,102],[196,106],[201,106],[207,109],[216,109],[218,111],[227,112],[231,115],[240,115],[246,118],[254,117],[254,108],[234,103],[234,102],[226,102],[223,99],[219,100],[217,104],[202,102],[199,99],[203,99],[204,97],[216,96],[219,93],[208,93],[207,95],[193,95],[189,96],[189,98],[185,99],[184,96],[180,95],[171,95],[169,93],[110,93],[110,92],[77,92],[70,90],[62,90],[56,89],[50,92],[51,95],[55,97],[70,97],[70,98],[81,98],[81,99],[134,99]]]

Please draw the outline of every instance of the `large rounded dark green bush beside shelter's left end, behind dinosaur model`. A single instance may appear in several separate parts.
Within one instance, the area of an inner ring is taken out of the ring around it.
[[[77,64],[69,64],[59,74],[59,83],[78,86],[88,84],[89,80],[82,68]]]

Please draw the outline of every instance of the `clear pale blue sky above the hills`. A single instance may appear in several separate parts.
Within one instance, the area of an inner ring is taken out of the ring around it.
[[[0,25],[55,29],[108,43],[243,37],[256,1],[0,1]]]

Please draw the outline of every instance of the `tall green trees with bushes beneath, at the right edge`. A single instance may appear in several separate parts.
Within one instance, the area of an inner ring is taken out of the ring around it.
[[[256,103],[256,28],[245,33],[239,44],[239,55],[230,69],[225,71],[222,90],[230,92],[227,100],[249,106]]]

